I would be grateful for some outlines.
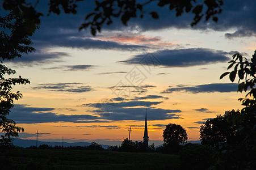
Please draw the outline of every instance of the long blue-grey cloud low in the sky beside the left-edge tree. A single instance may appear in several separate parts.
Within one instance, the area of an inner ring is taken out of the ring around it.
[[[15,120],[18,124],[37,124],[45,122],[74,122],[77,123],[83,120],[100,120],[99,116],[89,114],[56,114],[54,108],[36,108],[28,107],[27,105],[15,105],[11,109],[8,118]]]

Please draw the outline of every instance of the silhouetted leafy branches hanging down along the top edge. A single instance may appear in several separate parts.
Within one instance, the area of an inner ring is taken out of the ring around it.
[[[68,14],[77,14],[79,1],[84,0],[49,0],[49,14],[51,12],[60,14],[62,10]],[[94,2],[96,7],[93,11],[88,11],[85,17],[85,23],[82,23],[79,28],[85,29],[90,27],[92,35],[96,35],[97,31],[100,32],[103,25],[112,24],[114,18],[120,19],[124,25],[127,25],[128,20],[131,18],[142,19],[144,15],[150,15],[153,19],[159,18],[157,11],[148,12],[145,10],[146,5],[153,3],[152,0],[143,2],[138,0],[104,0]],[[222,12],[221,6],[223,6],[223,0],[205,0],[203,2],[196,2],[195,0],[157,0],[156,2],[156,6],[158,7],[169,6],[170,11],[175,10],[176,16],[181,16],[185,12],[191,12],[191,15],[194,15],[194,19],[191,22],[192,26],[197,24],[202,18],[205,18],[205,20],[212,19],[217,22],[217,14]],[[29,1],[3,0],[2,7],[8,11],[16,11],[20,14],[24,14],[24,16],[30,20],[28,25],[31,23],[40,23],[40,16],[42,14],[36,11],[35,6],[29,3]]]

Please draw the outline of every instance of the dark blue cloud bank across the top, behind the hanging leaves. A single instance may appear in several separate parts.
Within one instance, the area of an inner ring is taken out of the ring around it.
[[[46,16],[48,12],[47,3],[40,2],[42,5],[37,10],[43,12],[45,16],[41,18],[40,30],[32,37],[36,49],[44,49],[48,47],[68,47],[79,49],[112,49],[112,50],[145,50],[147,45],[131,45],[121,44],[119,41],[99,40],[90,35],[90,29],[86,31],[78,31],[79,26],[84,22],[88,12],[93,11],[95,7],[94,1],[79,2],[78,12],[75,15],[67,15],[62,12],[60,15],[51,14]],[[132,18],[128,22],[128,27],[125,27],[120,19],[114,19],[114,23],[110,26],[104,26],[104,31],[139,31],[158,30],[165,28],[185,28],[185,29],[200,29],[203,31],[215,30],[226,31],[228,29],[234,32],[226,33],[226,37],[241,37],[255,36],[256,25],[254,24],[256,10],[254,0],[247,1],[226,1],[223,6],[223,12],[219,15],[217,23],[211,19],[205,24],[203,20],[195,25],[190,26],[193,20],[193,15],[183,14],[177,17],[175,11],[170,11],[169,7],[158,7],[157,2],[152,2],[145,6],[146,11],[157,11],[160,19],[152,19],[150,15],[145,15],[143,19]],[[156,24],[157,23],[157,24]],[[237,24],[240,23],[240,24]],[[100,35],[98,35],[100,36]],[[159,39],[153,37],[151,41]]]

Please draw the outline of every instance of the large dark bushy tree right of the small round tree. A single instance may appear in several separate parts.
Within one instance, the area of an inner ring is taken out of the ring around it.
[[[236,126],[227,119],[230,116],[241,115],[240,111],[226,111],[223,116],[217,115],[215,118],[208,119],[200,127],[200,140],[202,145],[209,145],[219,148],[221,143],[240,142],[237,136]]]

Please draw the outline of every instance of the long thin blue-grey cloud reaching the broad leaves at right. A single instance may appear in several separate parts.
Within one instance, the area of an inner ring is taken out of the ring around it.
[[[213,84],[202,84],[198,86],[191,87],[171,87],[167,88],[165,91],[161,92],[163,94],[171,94],[174,91],[178,92],[191,92],[193,94],[198,94],[200,92],[234,92],[237,91],[237,83],[213,83]]]

